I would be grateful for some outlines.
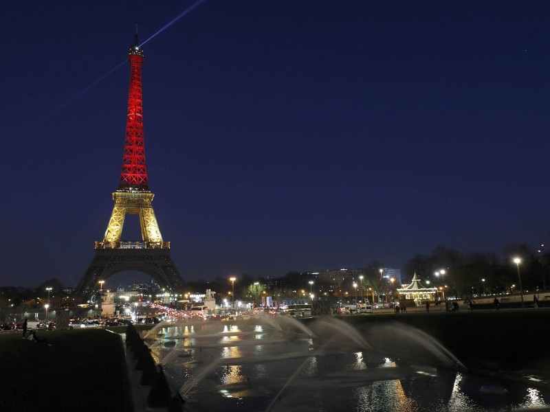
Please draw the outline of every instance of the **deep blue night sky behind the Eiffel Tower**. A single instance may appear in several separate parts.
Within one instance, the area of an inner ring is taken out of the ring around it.
[[[1,3],[0,284],[85,273],[129,64],[96,81],[135,21],[144,41],[192,1],[158,4]],[[149,186],[184,279],[549,240],[549,16],[548,1],[206,0],[152,38]]]

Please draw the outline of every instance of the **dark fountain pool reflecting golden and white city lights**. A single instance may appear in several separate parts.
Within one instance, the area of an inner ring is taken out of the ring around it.
[[[540,389],[385,356],[371,347],[369,333],[359,337],[338,323],[289,327],[272,320],[173,324],[157,330],[150,347],[173,387],[181,388],[188,411],[487,412],[549,406]],[[174,347],[157,344],[177,334]],[[342,341],[347,344],[335,344]],[[368,346],[360,347],[363,341]],[[437,356],[444,354],[437,347]]]

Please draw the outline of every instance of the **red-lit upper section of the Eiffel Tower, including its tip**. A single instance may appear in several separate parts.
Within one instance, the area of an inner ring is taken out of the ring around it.
[[[119,190],[148,191],[147,170],[145,167],[145,143],[143,138],[143,99],[142,99],[142,62],[143,49],[137,43],[130,47],[130,92],[128,95],[128,115],[126,117],[126,141],[124,159],[120,173]]]

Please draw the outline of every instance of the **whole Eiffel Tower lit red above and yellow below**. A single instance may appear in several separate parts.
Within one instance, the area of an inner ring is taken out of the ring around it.
[[[130,62],[130,91],[126,117],[126,141],[120,185],[113,193],[113,213],[101,242],[96,242],[96,255],[76,288],[80,294],[98,288],[98,282],[121,271],[141,271],[155,279],[161,287],[183,285],[177,268],[170,258],[170,242],[164,242],[153,211],[153,197],[148,187],[145,167],[142,104],[143,49],[135,43],[128,53]],[[126,214],[140,218],[141,241],[123,241],[122,227]]]

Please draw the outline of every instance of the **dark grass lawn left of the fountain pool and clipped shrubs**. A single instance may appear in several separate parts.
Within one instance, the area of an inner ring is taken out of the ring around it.
[[[118,334],[102,329],[37,334],[52,345],[23,340],[21,331],[0,334],[0,411],[126,411]]]

